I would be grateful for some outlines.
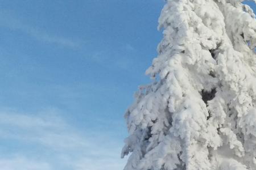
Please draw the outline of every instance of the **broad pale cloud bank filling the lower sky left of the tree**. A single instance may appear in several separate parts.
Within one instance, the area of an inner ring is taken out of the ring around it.
[[[61,115],[56,109],[38,113],[0,109],[1,146],[1,141],[19,146],[13,151],[5,144],[7,152],[0,154],[1,169],[119,170],[124,167],[125,160],[119,159],[120,143],[108,131],[77,129]],[[34,158],[40,158],[40,162]]]

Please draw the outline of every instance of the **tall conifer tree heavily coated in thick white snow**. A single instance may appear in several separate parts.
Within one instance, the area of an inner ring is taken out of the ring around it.
[[[125,114],[125,170],[256,169],[256,20],[242,0],[168,0]]]

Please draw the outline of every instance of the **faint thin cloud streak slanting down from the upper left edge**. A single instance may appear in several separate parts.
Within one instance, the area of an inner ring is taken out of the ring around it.
[[[62,36],[51,35],[36,26],[22,22],[20,19],[16,18],[14,15],[11,15],[10,12],[6,10],[0,11],[0,26],[9,28],[13,31],[26,33],[39,41],[66,46],[69,48],[76,48],[80,46],[80,42],[77,40],[75,41]]]

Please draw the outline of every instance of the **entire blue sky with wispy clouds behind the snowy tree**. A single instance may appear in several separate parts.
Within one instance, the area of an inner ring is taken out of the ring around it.
[[[0,4],[1,169],[122,169],[123,113],[150,82],[163,1]]]

